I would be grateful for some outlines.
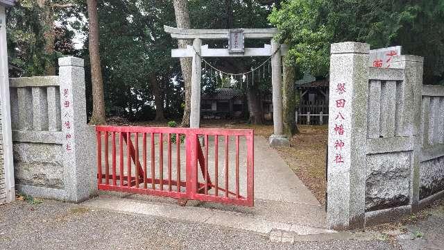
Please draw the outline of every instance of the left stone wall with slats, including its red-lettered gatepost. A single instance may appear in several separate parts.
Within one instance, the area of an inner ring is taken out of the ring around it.
[[[33,197],[79,202],[94,192],[95,134],[83,60],[59,65],[59,76],[10,78],[15,184]]]

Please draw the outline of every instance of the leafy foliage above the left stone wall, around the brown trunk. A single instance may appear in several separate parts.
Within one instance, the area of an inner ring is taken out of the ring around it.
[[[44,9],[37,5],[37,1],[17,1],[13,8],[8,9],[8,59],[9,63],[22,69],[22,72],[12,76],[42,76],[46,64],[57,65],[60,56],[76,53],[72,42],[74,31],[69,30],[71,22],[67,20],[69,17],[79,17],[78,10],[55,9],[58,10],[54,12],[57,25],[50,27],[56,35],[54,54],[44,50],[44,31],[48,27],[42,23]]]

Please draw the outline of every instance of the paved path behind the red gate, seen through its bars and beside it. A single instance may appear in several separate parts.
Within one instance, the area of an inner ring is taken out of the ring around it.
[[[102,172],[105,173],[105,140],[102,137]],[[162,153],[163,153],[163,164],[162,164],[162,178],[168,178],[169,176],[169,152],[168,152],[168,144],[167,135],[163,135],[163,143],[162,143]],[[119,138],[117,135],[116,140],[116,171],[119,174],[120,168],[120,153],[119,153]],[[147,165],[147,177],[151,178],[151,138],[150,135],[147,135],[147,143],[146,143],[146,165]],[[132,135],[131,141],[133,144],[135,143],[135,135]],[[153,165],[155,166],[155,176],[156,178],[160,178],[160,144],[159,144],[159,135],[155,135],[154,137],[154,153],[155,160],[153,161]],[[219,170],[217,174],[217,178],[219,181],[219,186],[221,188],[225,188],[225,140],[223,136],[219,136],[219,147],[218,147],[218,165]],[[112,136],[110,135],[108,140],[108,172],[112,174]],[[215,156],[214,156],[214,137],[210,136],[208,141],[208,172],[210,174],[210,178],[214,183],[216,178],[215,175]],[[229,145],[228,145],[228,186],[230,191],[234,192],[235,188],[235,139],[234,137],[230,137]],[[127,153],[126,153],[126,144],[123,144],[123,173],[128,173],[128,162],[127,162]],[[139,135],[138,139],[138,151],[139,151],[139,162],[143,165],[143,141],[142,135]],[[205,147],[203,147],[203,152],[205,153]],[[171,178],[173,180],[177,179],[177,170],[178,170],[178,157],[177,157],[177,149],[176,144],[172,145],[171,151]],[[131,174],[135,176],[135,164],[133,161],[131,163]],[[180,179],[185,181],[185,143],[180,144]],[[203,174],[198,174],[199,181],[204,183]],[[239,190],[242,196],[246,196],[246,142],[243,137],[240,138],[239,142]],[[110,181],[112,183],[112,181]],[[167,183],[165,181],[164,183]],[[117,185],[119,185],[119,181],[117,181]],[[141,184],[142,186],[142,184]],[[148,185],[149,187],[149,185]],[[160,185],[156,185],[157,190],[160,188]],[[167,189],[168,186],[164,185],[164,189]],[[174,188],[173,188],[174,189]],[[182,190],[185,192],[185,190]],[[214,194],[214,190],[210,190],[210,194]],[[223,196],[224,193],[219,191],[219,196]],[[285,201],[291,203],[304,203],[318,206],[320,205],[313,194],[302,184],[299,178],[291,172],[287,164],[280,158],[278,152],[273,149],[270,149],[268,146],[268,141],[265,138],[260,136],[255,136],[255,199],[257,200],[268,200],[268,201]]]

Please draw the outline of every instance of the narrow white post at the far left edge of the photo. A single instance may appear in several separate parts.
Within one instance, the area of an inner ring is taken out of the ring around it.
[[[14,162],[12,158],[11,114],[8,78],[8,51],[6,46],[6,12],[0,5],[0,191],[4,187],[4,201],[15,200]],[[2,148],[3,147],[3,148]],[[3,165],[3,166],[1,166]],[[1,170],[3,169],[3,171]],[[2,173],[3,172],[3,173]],[[4,181],[4,183],[3,183]],[[5,199],[6,198],[6,199]]]

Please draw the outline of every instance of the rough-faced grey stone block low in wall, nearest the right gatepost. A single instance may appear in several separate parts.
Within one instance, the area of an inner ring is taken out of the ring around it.
[[[367,156],[366,211],[407,205],[411,151]]]

